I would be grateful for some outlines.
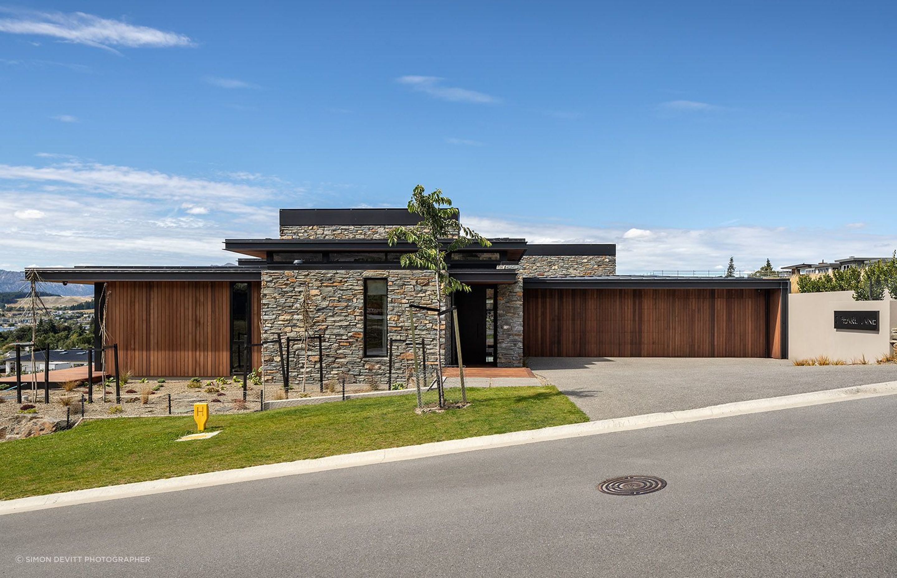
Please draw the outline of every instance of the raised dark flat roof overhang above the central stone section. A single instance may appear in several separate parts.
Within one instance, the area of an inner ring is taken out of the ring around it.
[[[458,252],[507,251],[507,260],[518,262],[527,251],[527,241],[525,239],[490,239],[489,241],[492,242],[491,247],[482,247],[478,243],[473,243],[463,249],[459,249]],[[451,243],[449,239],[443,241],[443,244],[447,247],[449,243]],[[416,247],[405,241],[399,241],[395,245],[390,245],[385,240],[225,239],[224,250],[249,255],[250,257],[266,258],[271,251],[394,251],[413,253]]]

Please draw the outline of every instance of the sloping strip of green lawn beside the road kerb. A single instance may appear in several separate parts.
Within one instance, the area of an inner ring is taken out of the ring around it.
[[[588,421],[552,386],[467,397],[469,407],[422,416],[413,393],[212,416],[206,429],[222,433],[196,442],[175,442],[195,432],[193,416],[89,421],[0,443],[0,499]]]

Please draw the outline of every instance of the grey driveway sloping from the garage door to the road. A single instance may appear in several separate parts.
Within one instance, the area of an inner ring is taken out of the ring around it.
[[[530,357],[528,364],[593,420],[897,381],[894,364],[676,357]]]

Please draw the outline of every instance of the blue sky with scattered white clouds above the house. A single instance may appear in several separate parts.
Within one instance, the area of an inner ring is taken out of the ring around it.
[[[0,9],[0,267],[206,264],[282,206],[619,244],[619,269],[897,248],[893,3]]]

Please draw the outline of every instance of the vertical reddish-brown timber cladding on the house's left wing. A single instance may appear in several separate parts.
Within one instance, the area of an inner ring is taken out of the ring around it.
[[[252,340],[258,341],[260,284],[250,284]],[[231,284],[122,281],[106,284],[107,344],[118,343],[122,372],[211,377],[231,371]],[[111,356],[107,358],[111,362]],[[261,351],[253,352],[253,365]],[[112,371],[111,363],[107,371]]]

